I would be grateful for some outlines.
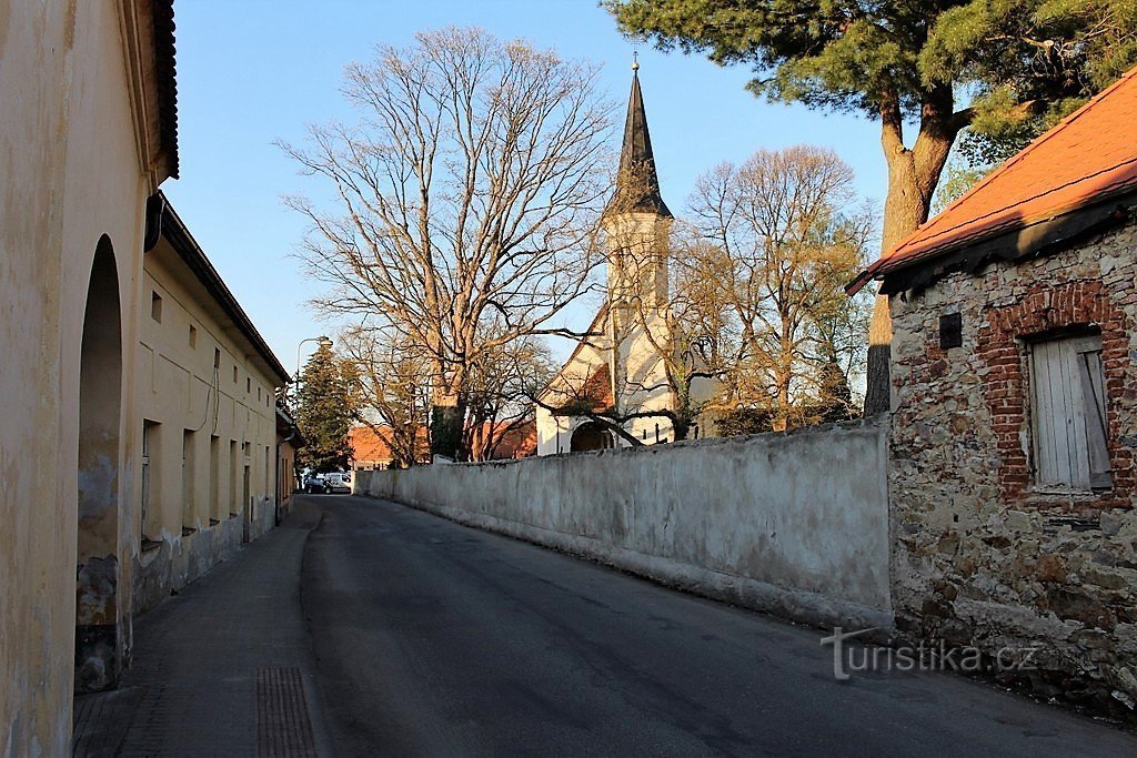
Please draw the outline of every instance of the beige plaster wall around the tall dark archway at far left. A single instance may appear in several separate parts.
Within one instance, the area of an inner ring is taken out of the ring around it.
[[[114,249],[121,310],[136,309],[143,205],[119,10],[0,3],[0,751],[63,753],[75,655],[80,355],[96,247]],[[10,103],[19,103],[11,107]],[[134,357],[123,318],[123,366]],[[133,397],[130,372],[122,418]],[[136,457],[121,425],[116,499]],[[117,520],[119,556],[128,523]],[[121,583],[128,585],[128,567]],[[114,618],[130,614],[119,593]],[[128,630],[127,630],[128,632]],[[121,640],[125,643],[125,635]]]

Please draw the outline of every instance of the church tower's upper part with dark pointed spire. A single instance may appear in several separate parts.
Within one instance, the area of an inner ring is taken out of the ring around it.
[[[612,308],[639,307],[637,298],[649,307],[667,301],[667,240],[673,222],[659,197],[659,177],[639,86],[639,64],[633,63],[616,191],[600,219],[607,238]]]

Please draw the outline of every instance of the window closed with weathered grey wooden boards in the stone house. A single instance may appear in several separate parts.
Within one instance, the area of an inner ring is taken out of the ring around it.
[[[1110,489],[1101,335],[1032,344],[1030,386],[1035,484],[1062,491]]]

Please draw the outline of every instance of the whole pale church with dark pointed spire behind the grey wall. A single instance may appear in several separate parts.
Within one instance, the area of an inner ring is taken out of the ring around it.
[[[607,298],[538,398],[537,455],[673,442],[666,411],[675,408],[677,393],[689,392],[697,407],[716,392],[713,378],[677,386],[678,326],[667,270],[674,220],[659,194],[639,64],[632,64],[616,188],[600,217]],[[697,418],[688,439],[706,435],[708,425]]]

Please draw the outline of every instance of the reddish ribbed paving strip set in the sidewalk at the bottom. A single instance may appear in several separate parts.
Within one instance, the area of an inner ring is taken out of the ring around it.
[[[316,756],[299,668],[257,669],[257,756]]]

